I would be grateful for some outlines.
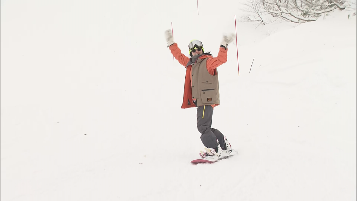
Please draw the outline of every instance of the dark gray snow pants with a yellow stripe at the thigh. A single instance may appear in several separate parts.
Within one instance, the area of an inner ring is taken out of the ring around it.
[[[216,148],[225,145],[223,134],[212,126],[212,106],[197,107],[197,129],[201,133],[201,141],[207,148]],[[217,143],[218,139],[218,143]]]

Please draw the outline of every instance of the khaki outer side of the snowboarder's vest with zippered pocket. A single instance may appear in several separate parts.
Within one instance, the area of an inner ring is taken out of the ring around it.
[[[208,73],[206,62],[208,58],[198,59],[192,65],[192,98],[196,98],[197,107],[220,104],[218,71],[216,75]]]

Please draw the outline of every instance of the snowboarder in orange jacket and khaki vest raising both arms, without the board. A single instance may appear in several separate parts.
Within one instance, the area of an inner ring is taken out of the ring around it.
[[[213,108],[220,104],[217,67],[227,62],[227,47],[235,39],[235,35],[223,36],[217,57],[212,57],[210,52],[205,53],[201,41],[190,41],[188,44],[190,58],[181,53],[172,38],[171,29],[166,30],[165,35],[171,54],[186,67],[181,108],[197,107],[197,129],[206,147],[206,151],[201,151],[200,156],[206,158],[229,154],[232,148],[227,138],[217,129],[211,128],[211,125]]]

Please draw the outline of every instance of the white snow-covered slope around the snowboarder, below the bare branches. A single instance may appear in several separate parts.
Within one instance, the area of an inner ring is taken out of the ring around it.
[[[356,200],[356,16],[237,23],[212,127],[239,155],[191,165],[187,54],[217,55],[239,4],[1,4],[1,201]],[[237,8],[236,10],[234,8]],[[151,9],[150,9],[151,8]],[[160,10],[160,12],[158,12]],[[191,14],[187,14],[191,13]],[[249,73],[252,60],[254,62]]]

